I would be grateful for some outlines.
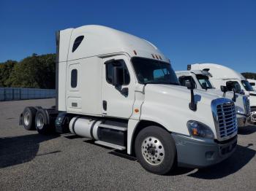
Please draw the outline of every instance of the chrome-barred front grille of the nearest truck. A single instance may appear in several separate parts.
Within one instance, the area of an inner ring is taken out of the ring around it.
[[[220,139],[229,137],[237,131],[236,108],[233,102],[217,105],[217,125]]]

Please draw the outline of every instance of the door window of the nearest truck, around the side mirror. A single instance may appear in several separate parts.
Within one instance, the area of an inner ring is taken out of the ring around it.
[[[124,60],[117,60],[110,63],[106,63],[106,80],[108,83],[112,84],[112,74],[113,74],[113,66],[118,66],[118,68],[121,68],[124,73],[124,85],[129,85],[129,71],[127,69],[127,66],[124,62]]]

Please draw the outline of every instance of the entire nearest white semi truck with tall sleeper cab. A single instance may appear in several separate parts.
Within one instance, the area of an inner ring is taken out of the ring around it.
[[[236,149],[233,101],[179,85],[154,44],[104,26],[56,33],[56,107],[26,107],[20,124],[126,150],[154,174],[205,167]]]

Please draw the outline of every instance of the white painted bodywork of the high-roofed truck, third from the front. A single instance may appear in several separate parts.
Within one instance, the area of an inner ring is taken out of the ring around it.
[[[208,72],[212,75],[212,77],[210,77],[211,83],[217,89],[220,89],[221,85],[226,85],[226,83],[229,81],[238,82],[238,84],[241,86],[241,90],[244,90],[245,95],[249,96],[251,107],[256,107],[256,92],[246,90],[241,82],[242,80],[246,81],[246,78],[240,73],[216,63],[195,63],[191,65],[191,70],[203,69],[209,69]]]

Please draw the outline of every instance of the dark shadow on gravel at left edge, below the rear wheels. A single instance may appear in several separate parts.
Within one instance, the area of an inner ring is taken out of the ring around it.
[[[37,156],[39,144],[43,141],[55,139],[58,135],[42,136],[31,134],[26,136],[16,136],[0,138],[0,168],[12,165],[27,163]],[[60,151],[40,154],[49,155]]]

